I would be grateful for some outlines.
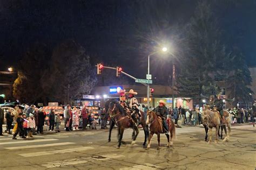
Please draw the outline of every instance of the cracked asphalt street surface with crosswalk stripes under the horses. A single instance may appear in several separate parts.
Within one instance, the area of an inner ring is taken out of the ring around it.
[[[204,141],[204,129],[199,126],[183,126],[176,132],[178,140],[170,148],[161,134],[160,150],[155,135],[150,150],[142,147],[143,130],[134,145],[131,129],[125,130],[127,144],[119,150],[116,129],[110,143],[108,130],[100,129],[48,131],[25,140],[5,134],[0,137],[0,169],[255,169],[256,128],[252,125],[232,126],[229,142],[211,144]]]

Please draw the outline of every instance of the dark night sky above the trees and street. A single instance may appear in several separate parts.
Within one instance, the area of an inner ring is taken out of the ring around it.
[[[223,43],[237,48],[250,66],[256,66],[256,1],[209,2],[223,30]],[[154,23],[155,16],[167,11],[170,25],[182,26],[190,20],[196,4],[191,0],[0,1],[0,68],[16,66],[36,42],[53,48],[74,39],[85,47],[93,63],[127,61],[123,65],[132,72],[132,62],[150,52],[141,53],[143,49],[136,49],[129,39],[138,33],[136,23]]]

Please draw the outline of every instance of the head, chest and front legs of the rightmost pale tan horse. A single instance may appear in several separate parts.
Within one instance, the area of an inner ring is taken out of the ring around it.
[[[214,112],[209,109],[207,105],[205,105],[204,111],[203,111],[203,124],[207,125],[207,128],[209,128],[210,131],[210,137],[208,143],[211,143],[212,141],[212,128],[216,128],[216,140],[215,142],[218,142],[218,131],[220,126],[220,117],[217,112]]]

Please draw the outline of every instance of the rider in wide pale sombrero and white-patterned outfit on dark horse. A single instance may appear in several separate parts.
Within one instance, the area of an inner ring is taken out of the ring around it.
[[[137,95],[138,93],[136,91],[134,91],[133,89],[130,89],[129,91],[129,96],[126,100],[126,105],[133,111],[136,112],[136,114],[140,117],[140,114],[139,114],[139,104],[138,104],[138,100],[137,98],[134,96],[134,95]],[[138,122],[137,122],[137,119],[136,119],[136,115],[132,115],[134,121],[136,121],[137,125],[138,125]]]

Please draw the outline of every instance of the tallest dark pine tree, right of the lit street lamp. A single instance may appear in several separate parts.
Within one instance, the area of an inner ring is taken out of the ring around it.
[[[214,95],[215,78],[224,70],[227,54],[221,45],[217,21],[212,15],[210,5],[205,1],[198,3],[194,16],[187,26],[187,52],[181,58],[177,89],[180,95],[199,97],[200,94]]]

